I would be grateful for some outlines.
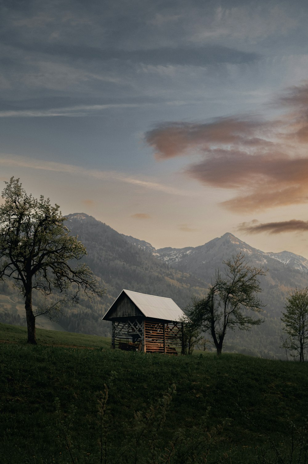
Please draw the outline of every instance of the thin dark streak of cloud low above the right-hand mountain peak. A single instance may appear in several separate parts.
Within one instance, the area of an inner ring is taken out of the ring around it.
[[[249,233],[268,232],[270,234],[278,234],[282,232],[308,232],[308,221],[299,219],[291,219],[281,222],[259,223],[256,220],[251,222],[242,222],[238,227],[238,231]]]

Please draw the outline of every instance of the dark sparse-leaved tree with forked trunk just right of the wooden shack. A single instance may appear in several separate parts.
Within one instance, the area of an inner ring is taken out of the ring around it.
[[[232,255],[223,264],[223,275],[217,271],[207,295],[204,298],[194,297],[188,310],[188,317],[194,325],[211,334],[218,355],[228,328],[249,330],[252,325],[263,322],[246,313],[247,310],[262,311],[264,305],[257,297],[261,291],[258,277],[267,272],[249,266],[241,253]]]

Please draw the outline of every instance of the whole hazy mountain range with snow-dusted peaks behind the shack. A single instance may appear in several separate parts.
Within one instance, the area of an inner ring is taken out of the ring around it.
[[[197,247],[156,250],[148,242],[120,234],[85,213],[69,214],[66,226],[85,245],[88,255],[84,261],[106,288],[106,295],[91,302],[81,296],[77,307],[66,308],[59,316],[56,329],[109,335],[109,322],[101,319],[123,289],[167,296],[185,309],[193,295],[205,295],[215,271],[223,270],[223,261],[241,252],[250,265],[268,269],[260,279],[265,322],[250,332],[227,333],[224,349],[263,357],[284,356],[280,318],[288,292],[307,286],[306,258],[289,251],[257,250],[231,233]],[[16,323],[19,317],[17,323],[23,324],[22,302],[13,305],[17,301],[14,291],[10,282],[0,285],[0,322]],[[40,298],[34,296],[34,303],[41,303]]]

